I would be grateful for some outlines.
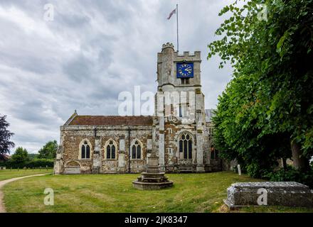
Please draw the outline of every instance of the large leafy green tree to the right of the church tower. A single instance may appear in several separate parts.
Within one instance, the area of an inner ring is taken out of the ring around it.
[[[233,79],[219,96],[214,142],[258,177],[277,158],[305,170],[313,149],[312,0],[237,1],[208,45],[230,62]]]

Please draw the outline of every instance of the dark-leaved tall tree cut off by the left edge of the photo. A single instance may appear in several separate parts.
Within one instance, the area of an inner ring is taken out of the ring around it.
[[[10,138],[14,135],[7,128],[10,124],[6,121],[6,116],[0,116],[0,157],[10,153],[10,148],[14,148],[14,143]]]

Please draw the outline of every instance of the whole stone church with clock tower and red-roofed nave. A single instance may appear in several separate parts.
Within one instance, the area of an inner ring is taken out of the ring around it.
[[[154,116],[70,116],[60,126],[55,174],[137,173],[147,157],[165,172],[222,168],[212,143],[213,111],[204,108],[201,52],[179,54],[166,43],[157,54]]]

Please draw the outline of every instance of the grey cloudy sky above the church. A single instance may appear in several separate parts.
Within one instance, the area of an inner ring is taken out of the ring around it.
[[[175,15],[166,18],[177,2],[179,49],[201,50],[206,109],[215,108],[231,69],[219,70],[218,57],[206,60],[206,46],[230,1],[1,0],[0,114],[16,146],[36,153],[59,140],[59,126],[75,109],[117,115],[118,94],[135,85],[156,92],[157,52],[166,42],[176,46]],[[54,8],[53,21],[45,4]]]

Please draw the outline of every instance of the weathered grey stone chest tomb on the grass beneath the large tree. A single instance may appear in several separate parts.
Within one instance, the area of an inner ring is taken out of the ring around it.
[[[238,182],[227,189],[224,203],[240,206],[313,206],[313,190],[297,182]]]

